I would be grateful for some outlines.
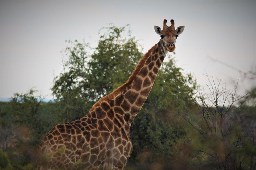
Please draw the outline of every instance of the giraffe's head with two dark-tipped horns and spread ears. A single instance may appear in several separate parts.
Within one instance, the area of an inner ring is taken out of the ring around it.
[[[172,24],[171,26],[167,26],[166,23],[167,23],[167,20],[164,19],[163,30],[161,30],[160,26],[154,26],[154,28],[156,33],[161,36],[164,47],[168,51],[172,52],[175,50],[175,42],[179,34],[183,32],[185,26],[179,26],[177,27],[177,29],[175,29],[173,19],[171,19],[171,24]]]

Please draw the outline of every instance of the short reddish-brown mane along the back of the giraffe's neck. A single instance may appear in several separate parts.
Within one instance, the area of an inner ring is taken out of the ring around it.
[[[157,44],[156,44],[157,45]],[[114,98],[117,94],[119,94],[120,92],[122,92],[126,87],[128,87],[129,85],[131,85],[132,81],[136,78],[136,75],[139,73],[140,69],[144,66],[144,63],[146,62],[146,60],[148,59],[149,55],[152,53],[152,51],[156,48],[156,45],[154,45],[152,48],[150,48],[148,50],[147,53],[144,54],[144,56],[142,57],[142,59],[140,59],[138,65],[136,66],[135,70],[132,72],[132,75],[128,78],[128,80],[121,85],[120,87],[118,87],[116,90],[114,90],[113,92],[111,92],[110,94],[108,94],[107,96],[102,97],[99,101],[97,101],[93,106],[92,109],[94,107],[97,107],[100,105],[100,103],[102,101],[105,100],[109,100]],[[91,109],[91,110],[92,110]],[[91,111],[90,110],[90,111]]]

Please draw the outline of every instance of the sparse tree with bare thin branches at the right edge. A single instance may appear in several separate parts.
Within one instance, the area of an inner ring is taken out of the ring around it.
[[[236,95],[237,85],[226,90],[220,81],[209,82],[210,95],[191,95],[197,110],[180,114],[192,130],[180,141],[183,148],[178,152],[191,150],[190,163],[201,168],[255,169],[255,105],[244,105],[245,100],[255,101],[255,89],[241,97]]]

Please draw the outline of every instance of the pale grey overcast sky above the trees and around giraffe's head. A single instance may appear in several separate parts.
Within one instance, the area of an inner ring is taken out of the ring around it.
[[[244,94],[256,85],[256,1],[0,1],[0,98],[30,88],[52,99],[54,76],[63,70],[65,40],[96,47],[103,26],[130,24],[145,53],[160,37],[154,25],[174,19],[185,26],[176,41],[176,65],[201,87],[206,76]],[[223,63],[228,63],[223,64]]]

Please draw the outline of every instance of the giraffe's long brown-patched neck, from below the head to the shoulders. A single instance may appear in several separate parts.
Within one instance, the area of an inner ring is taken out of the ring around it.
[[[104,119],[107,126],[114,123],[129,132],[133,119],[148,98],[166,54],[161,39],[143,56],[126,83],[95,103],[87,116]]]

